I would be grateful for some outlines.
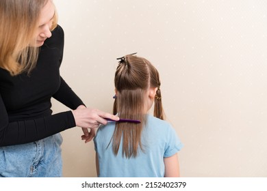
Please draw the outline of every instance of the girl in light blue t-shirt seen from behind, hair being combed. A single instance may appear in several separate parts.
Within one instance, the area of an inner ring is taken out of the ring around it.
[[[110,122],[94,145],[99,177],[179,177],[177,151],[183,146],[164,121],[160,76],[142,57],[121,57],[115,73],[114,115],[140,123]],[[154,103],[154,116],[149,109]]]

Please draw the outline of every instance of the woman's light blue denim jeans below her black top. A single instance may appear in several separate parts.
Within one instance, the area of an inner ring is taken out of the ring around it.
[[[0,177],[62,177],[62,136],[0,147]]]

